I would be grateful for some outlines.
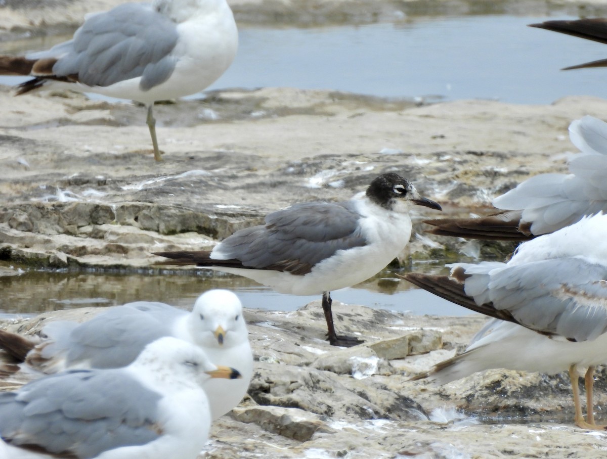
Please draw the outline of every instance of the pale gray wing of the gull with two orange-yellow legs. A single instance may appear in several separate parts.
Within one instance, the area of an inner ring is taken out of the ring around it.
[[[607,267],[584,258],[535,261],[473,273],[463,265],[466,293],[507,310],[521,325],[572,341],[607,330]],[[483,263],[478,265],[480,271]]]

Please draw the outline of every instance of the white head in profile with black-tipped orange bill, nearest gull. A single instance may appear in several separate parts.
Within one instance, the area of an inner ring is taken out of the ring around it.
[[[149,343],[132,366],[137,367],[138,372],[145,368],[161,380],[183,381],[183,384],[192,381],[202,384],[210,378],[241,377],[237,369],[215,365],[200,347],[174,337]]]

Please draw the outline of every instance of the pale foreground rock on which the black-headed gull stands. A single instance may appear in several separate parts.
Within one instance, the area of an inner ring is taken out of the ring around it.
[[[81,321],[99,310],[0,326],[29,334],[49,320]],[[215,421],[201,458],[594,458],[605,451],[607,434],[572,426],[566,375],[490,370],[443,387],[409,381],[461,350],[484,318],[337,302],[334,311],[340,329],[364,344],[329,346],[319,301],[295,312],[245,309],[256,360],[249,395]],[[607,403],[605,376],[600,370],[597,407]],[[23,380],[12,376],[0,386]]]

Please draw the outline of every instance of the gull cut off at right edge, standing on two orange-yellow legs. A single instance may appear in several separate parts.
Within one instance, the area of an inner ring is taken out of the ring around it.
[[[555,374],[569,370],[577,426],[594,422],[594,368],[607,361],[607,215],[521,244],[508,263],[452,264],[450,276],[407,273],[416,286],[495,319],[466,352],[435,366],[439,384],[490,368]],[[478,335],[477,335],[478,336]],[[582,414],[578,367],[585,374]],[[416,378],[417,379],[417,378]]]

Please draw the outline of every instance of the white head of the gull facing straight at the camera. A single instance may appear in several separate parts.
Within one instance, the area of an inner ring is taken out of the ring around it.
[[[209,290],[200,295],[189,320],[192,337],[201,346],[231,347],[248,340],[242,304],[229,290]]]

